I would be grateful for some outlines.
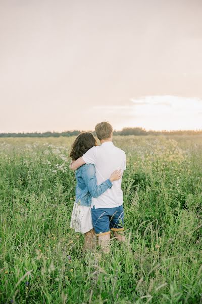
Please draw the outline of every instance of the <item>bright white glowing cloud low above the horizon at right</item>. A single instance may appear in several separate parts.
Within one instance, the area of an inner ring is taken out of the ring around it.
[[[115,128],[153,130],[202,129],[202,100],[178,96],[145,96],[127,105],[94,106],[91,113],[114,123]]]

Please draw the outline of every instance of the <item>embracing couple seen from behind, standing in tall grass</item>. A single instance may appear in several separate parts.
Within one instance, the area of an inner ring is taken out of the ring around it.
[[[70,226],[84,234],[84,249],[98,244],[109,252],[111,232],[124,242],[124,210],[121,179],[126,169],[125,152],[113,142],[113,129],[107,122],[95,126],[100,146],[89,132],[73,143],[70,169],[76,170],[76,198]]]

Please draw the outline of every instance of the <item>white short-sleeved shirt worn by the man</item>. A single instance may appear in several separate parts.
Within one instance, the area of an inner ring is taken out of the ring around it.
[[[100,146],[89,149],[83,156],[86,164],[95,165],[97,184],[104,182],[113,171],[126,169],[125,152],[117,148],[112,141],[106,141]],[[114,208],[123,204],[121,179],[113,181],[112,188],[108,189],[98,198],[92,198],[91,208]]]

